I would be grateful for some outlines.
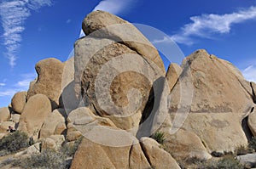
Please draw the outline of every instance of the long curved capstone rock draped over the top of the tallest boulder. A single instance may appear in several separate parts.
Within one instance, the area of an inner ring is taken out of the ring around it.
[[[104,11],[94,11],[88,14],[82,24],[83,31],[91,37],[112,39],[123,42],[145,59],[153,61],[165,74],[165,66],[158,51],[134,25]]]

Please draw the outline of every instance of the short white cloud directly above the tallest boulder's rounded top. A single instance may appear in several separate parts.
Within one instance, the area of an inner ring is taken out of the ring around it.
[[[131,8],[135,0],[102,0],[93,11],[103,10],[111,14],[120,14]]]

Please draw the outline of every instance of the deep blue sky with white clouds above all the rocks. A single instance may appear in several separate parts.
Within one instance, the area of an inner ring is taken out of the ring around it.
[[[39,60],[67,60],[95,9],[165,32],[154,42],[171,37],[185,55],[205,48],[256,82],[256,0],[1,0],[0,107],[27,90]]]

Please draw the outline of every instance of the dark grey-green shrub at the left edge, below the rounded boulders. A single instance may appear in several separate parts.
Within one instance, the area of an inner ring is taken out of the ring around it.
[[[16,131],[0,140],[0,150],[13,153],[28,147],[28,137],[25,132]]]

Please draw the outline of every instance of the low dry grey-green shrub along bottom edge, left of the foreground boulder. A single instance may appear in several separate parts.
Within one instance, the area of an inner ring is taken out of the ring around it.
[[[67,156],[61,151],[55,149],[45,149],[42,153],[31,155],[20,160],[15,161],[13,166],[19,166],[20,168],[67,168]]]

